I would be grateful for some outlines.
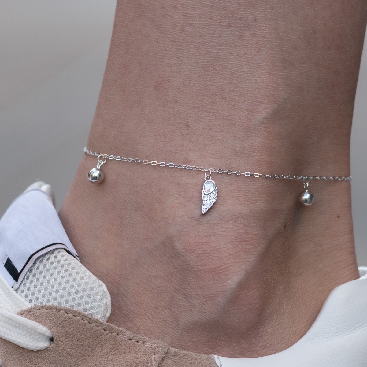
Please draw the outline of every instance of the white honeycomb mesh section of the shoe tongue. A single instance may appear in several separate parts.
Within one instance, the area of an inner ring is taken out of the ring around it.
[[[80,310],[99,320],[110,312],[105,285],[63,249],[39,257],[17,293],[34,305],[57,305]]]

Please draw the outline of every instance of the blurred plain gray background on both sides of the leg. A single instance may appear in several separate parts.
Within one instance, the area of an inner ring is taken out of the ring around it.
[[[116,0],[0,0],[0,215],[37,179],[63,201],[97,103]],[[367,40],[352,128],[352,201],[367,265]]]

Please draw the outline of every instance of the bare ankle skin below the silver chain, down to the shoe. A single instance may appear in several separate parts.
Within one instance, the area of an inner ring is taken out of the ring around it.
[[[220,196],[201,215],[201,172],[112,161],[94,185],[93,164],[83,159],[60,215],[111,292],[110,321],[132,331],[196,352],[269,354],[357,277],[349,183],[313,184],[317,201],[304,208],[297,182],[218,175]]]

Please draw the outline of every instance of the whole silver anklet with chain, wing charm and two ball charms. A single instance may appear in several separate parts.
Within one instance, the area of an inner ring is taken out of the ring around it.
[[[187,164],[175,164],[175,163],[165,163],[160,162],[158,163],[156,160],[149,161],[148,159],[139,159],[139,158],[124,158],[121,156],[113,156],[108,154],[96,153],[88,150],[87,148],[83,149],[83,152],[91,155],[97,156],[97,167],[92,168],[88,172],[88,179],[91,182],[99,183],[103,180],[103,172],[101,170],[102,164],[105,164],[107,159],[115,159],[117,161],[125,161],[125,162],[135,162],[135,163],[143,163],[143,164],[150,164],[152,166],[159,166],[159,167],[170,167],[170,168],[186,168],[186,170],[193,170],[193,171],[203,171],[204,172],[204,185],[202,190],[203,196],[203,206],[201,207],[201,213],[205,214],[215,203],[217,200],[218,188],[215,182],[211,179],[211,174],[214,173],[226,173],[228,175],[236,175],[236,176],[244,176],[244,177],[263,177],[263,178],[279,178],[279,179],[288,179],[288,180],[301,180],[303,184],[304,191],[299,195],[299,203],[308,207],[312,205],[315,197],[313,196],[312,192],[309,192],[309,182],[311,180],[326,180],[326,181],[350,181],[352,179],[351,176],[348,177],[323,177],[323,176],[291,176],[291,175],[266,175],[261,173],[251,173],[249,171],[241,172],[241,171],[232,171],[232,170],[222,170],[222,168],[214,169],[214,168],[205,168],[205,167],[196,167],[196,166],[189,166]]]

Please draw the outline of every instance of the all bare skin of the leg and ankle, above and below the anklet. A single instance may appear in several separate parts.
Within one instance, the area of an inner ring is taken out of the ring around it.
[[[87,146],[167,163],[349,175],[364,0],[118,0]],[[358,277],[349,182],[212,174],[85,155],[60,210],[110,322],[232,357],[286,349]]]

